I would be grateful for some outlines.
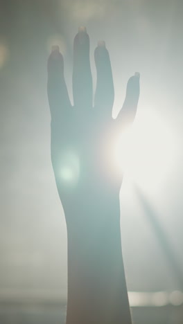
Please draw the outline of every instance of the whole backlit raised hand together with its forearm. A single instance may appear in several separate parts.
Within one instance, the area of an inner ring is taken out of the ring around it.
[[[128,80],[123,108],[114,120],[114,85],[105,42],[98,43],[94,55],[94,107],[86,28],[79,28],[73,43],[73,107],[58,46],[53,46],[48,60],[51,161],[68,234],[67,324],[128,324],[119,222],[122,174],[112,161],[112,150],[119,131],[134,120],[139,73]]]

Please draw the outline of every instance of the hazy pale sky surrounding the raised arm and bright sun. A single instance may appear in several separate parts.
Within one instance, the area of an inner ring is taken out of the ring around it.
[[[1,4],[0,287],[64,291],[67,286],[66,226],[50,159],[46,60],[51,44],[58,42],[71,96],[73,37],[80,25],[87,26],[90,36],[94,84],[93,53],[98,39],[105,39],[110,52],[114,114],[122,106],[128,78],[139,71],[139,116],[143,111],[155,112],[175,138],[173,165],[164,183],[148,192],[148,199],[182,263],[182,14],[182,0]],[[151,129],[156,134],[156,125]],[[172,148],[171,143],[170,156]],[[128,289],[179,288],[137,195],[125,190],[125,183],[121,231]]]

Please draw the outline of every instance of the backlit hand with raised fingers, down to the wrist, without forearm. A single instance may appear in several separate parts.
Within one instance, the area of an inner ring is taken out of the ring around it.
[[[80,38],[82,41],[80,42]],[[139,78],[130,78],[124,107],[112,118],[114,87],[110,57],[101,43],[96,48],[97,87],[92,108],[92,75],[89,37],[85,30],[74,42],[73,99],[71,107],[63,75],[63,59],[57,47],[49,57],[49,102],[52,116],[52,162],[60,198],[64,192],[110,188],[117,195],[121,174],[116,172],[112,150],[116,134],[127,119],[133,120],[139,98]],[[81,193],[81,192],[80,192]],[[104,195],[104,192],[103,192]],[[62,201],[64,204],[64,201]]]

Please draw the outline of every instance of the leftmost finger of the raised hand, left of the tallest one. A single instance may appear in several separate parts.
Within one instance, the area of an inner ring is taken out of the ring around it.
[[[51,120],[60,120],[71,107],[67,86],[64,81],[64,60],[59,46],[53,46],[48,60],[47,92]]]

